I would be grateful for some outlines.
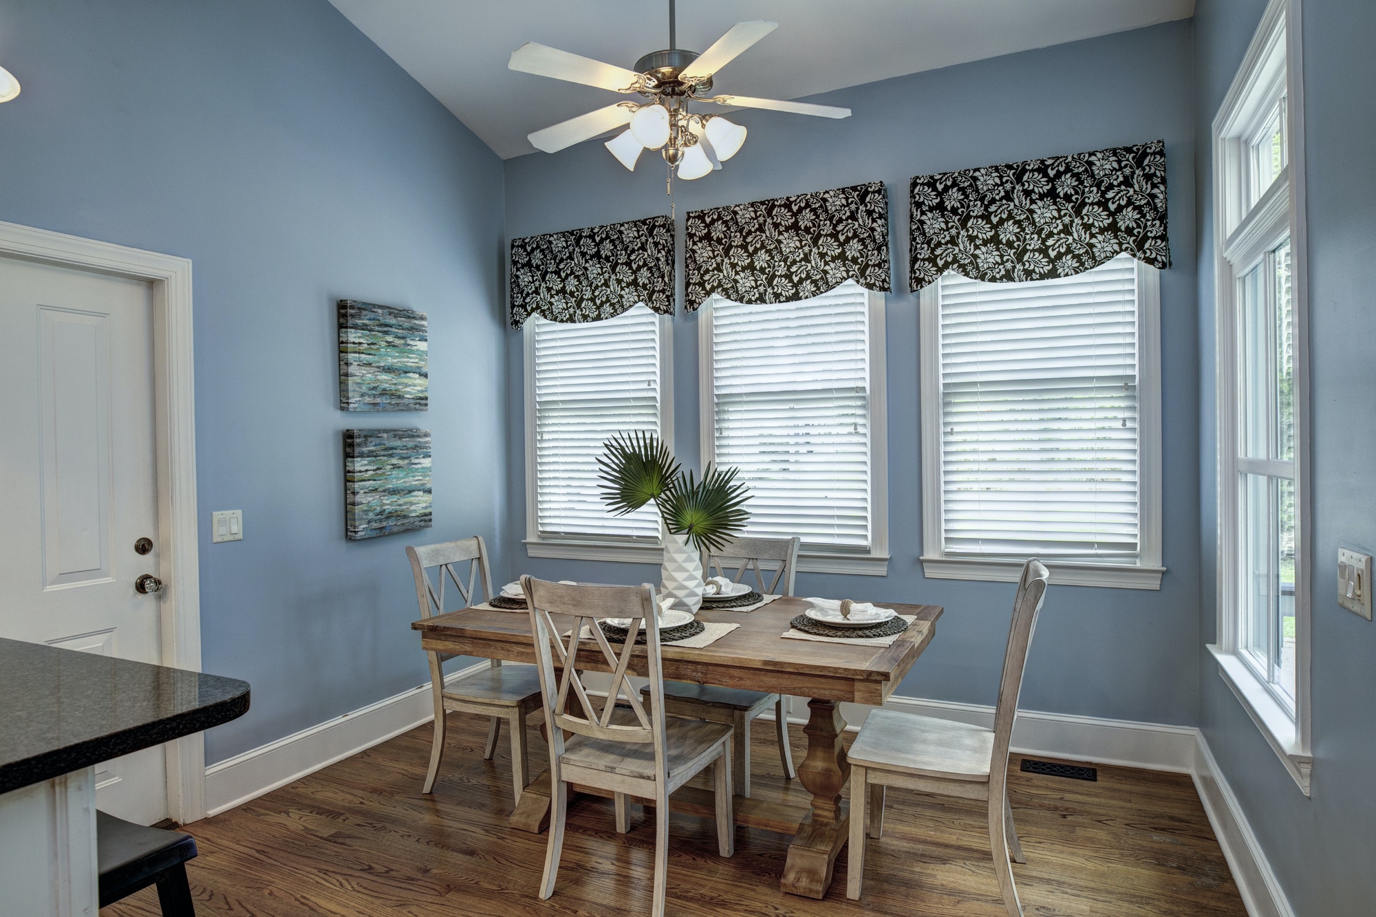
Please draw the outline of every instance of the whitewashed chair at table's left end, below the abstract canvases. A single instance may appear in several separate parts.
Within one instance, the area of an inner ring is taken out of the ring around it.
[[[446,581],[458,591],[457,609],[475,603],[475,589],[482,588],[482,602],[493,596],[493,577],[487,565],[487,545],[482,537],[460,538],[442,544],[406,547],[416,577],[416,599],[420,602],[421,617],[444,614]],[[468,570],[461,573],[461,565]],[[433,571],[436,582],[431,580]],[[487,724],[487,748],[483,760],[493,760],[502,723],[510,734],[512,744],[512,789],[516,801],[530,783],[530,761],[526,753],[526,717],[539,709],[539,675],[528,665],[502,665],[493,660],[480,672],[468,675],[451,687],[444,686],[444,661],[454,658],[447,653],[428,651],[431,668],[431,694],[435,701],[435,735],[431,739],[431,763],[425,774],[422,793],[435,789],[439,763],[444,757],[444,715],[451,710],[477,713],[490,717]]]

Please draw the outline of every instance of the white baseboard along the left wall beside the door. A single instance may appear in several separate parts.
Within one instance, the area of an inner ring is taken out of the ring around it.
[[[490,664],[475,662],[444,676],[451,684]],[[433,719],[429,684],[318,723],[275,742],[249,749],[205,768],[205,814],[242,805],[292,781],[413,730]]]

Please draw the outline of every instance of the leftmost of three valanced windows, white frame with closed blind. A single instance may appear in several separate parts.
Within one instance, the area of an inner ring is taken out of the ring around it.
[[[526,322],[526,551],[533,558],[647,560],[652,507],[612,516],[597,457],[645,430],[673,447],[671,319],[638,304],[600,322]]]

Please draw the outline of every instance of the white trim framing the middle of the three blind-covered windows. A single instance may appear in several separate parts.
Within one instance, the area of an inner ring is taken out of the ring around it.
[[[698,310],[698,434],[703,465],[716,458],[713,402],[711,306],[709,296]],[[889,372],[885,347],[885,296],[866,291],[870,322],[870,551],[817,551],[802,545],[798,570],[802,573],[850,573],[889,576]]]

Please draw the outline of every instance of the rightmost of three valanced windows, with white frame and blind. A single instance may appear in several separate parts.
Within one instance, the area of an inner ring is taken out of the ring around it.
[[[1120,255],[923,288],[922,566],[943,580],[1161,585],[1160,278]]]

